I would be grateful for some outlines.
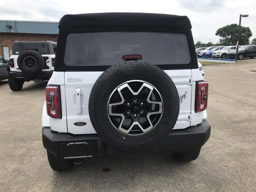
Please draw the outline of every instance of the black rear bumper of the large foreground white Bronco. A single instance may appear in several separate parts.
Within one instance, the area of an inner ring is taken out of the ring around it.
[[[211,126],[203,120],[198,126],[191,126],[185,130],[172,130],[156,146],[144,149],[144,153],[175,153],[186,152],[202,147],[210,137]],[[50,127],[42,128],[43,145],[48,152],[60,159],[76,159],[101,156],[120,156],[122,154],[134,153],[134,151],[124,151],[106,145],[98,134],[58,133]]]

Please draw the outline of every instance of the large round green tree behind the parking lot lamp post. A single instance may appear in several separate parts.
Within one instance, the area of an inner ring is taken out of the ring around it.
[[[215,35],[220,36],[220,44],[222,45],[236,45],[238,37],[238,28],[237,24],[226,25],[222,28],[219,28]],[[239,45],[249,44],[249,38],[252,36],[252,32],[249,27],[241,26],[240,40]]]

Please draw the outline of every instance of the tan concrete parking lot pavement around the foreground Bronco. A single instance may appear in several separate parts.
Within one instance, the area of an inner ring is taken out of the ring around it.
[[[162,154],[88,159],[58,173],[41,140],[44,88],[0,82],[0,191],[256,191],[256,58],[204,66],[210,139],[193,162]],[[110,172],[103,172],[110,168]]]

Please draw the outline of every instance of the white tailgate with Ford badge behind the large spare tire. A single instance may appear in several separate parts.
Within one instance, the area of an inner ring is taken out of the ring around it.
[[[180,96],[180,113],[174,129],[190,126],[192,100],[192,72],[187,70],[165,70]],[[102,72],[64,72],[66,115],[68,132],[72,134],[95,134],[89,117],[88,102],[92,86]],[[102,115],[102,114],[99,114]],[[85,126],[76,126],[75,122],[86,122]]]

